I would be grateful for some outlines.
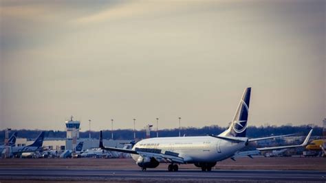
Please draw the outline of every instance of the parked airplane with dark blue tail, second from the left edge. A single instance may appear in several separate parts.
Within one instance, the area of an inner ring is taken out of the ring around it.
[[[32,143],[31,145],[23,147],[11,147],[11,153],[16,156],[18,154],[23,154],[24,152],[35,152],[41,149],[43,145],[44,134],[45,132],[41,132],[41,134],[39,134],[34,143]]]

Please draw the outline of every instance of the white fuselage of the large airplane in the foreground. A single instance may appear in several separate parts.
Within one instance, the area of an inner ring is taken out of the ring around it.
[[[246,141],[247,138],[239,138]],[[182,136],[147,138],[133,146],[144,149],[160,149],[161,153],[172,151],[184,158],[186,163],[217,162],[232,157],[237,151],[246,146],[245,142],[232,143],[212,136]],[[138,154],[131,155],[137,161]]]

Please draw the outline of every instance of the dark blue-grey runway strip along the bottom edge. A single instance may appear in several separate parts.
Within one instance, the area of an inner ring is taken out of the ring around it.
[[[165,169],[0,169],[0,180],[272,180],[326,181],[325,171]]]

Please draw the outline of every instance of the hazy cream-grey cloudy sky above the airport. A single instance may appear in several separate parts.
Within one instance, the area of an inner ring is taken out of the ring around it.
[[[325,1],[0,1],[0,129],[322,125]]]

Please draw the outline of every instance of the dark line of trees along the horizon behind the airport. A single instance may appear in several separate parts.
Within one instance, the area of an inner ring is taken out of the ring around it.
[[[282,134],[298,134],[298,136],[305,136],[309,132],[311,128],[314,128],[314,132],[312,136],[322,136],[323,135],[323,127],[312,126],[312,125],[300,125],[300,126],[292,126],[292,125],[268,125],[268,126],[248,126],[247,128],[247,136],[250,138],[263,137],[263,136],[277,136]],[[220,127],[219,125],[210,125],[204,127],[182,127],[181,136],[206,136],[206,135],[218,135],[221,132],[226,130],[226,127]],[[19,138],[36,138],[39,133],[43,130],[12,130],[10,131],[10,135],[13,132],[18,132]],[[111,138],[111,130],[104,130],[103,138],[109,139]],[[91,131],[91,138],[98,138],[100,132]],[[136,130],[135,131],[136,138],[142,139],[145,138],[146,132],[145,130]],[[89,138],[89,131],[80,132],[80,138]],[[166,136],[179,136],[179,129],[164,129],[159,130],[160,137]],[[45,130],[45,138],[65,138],[65,131],[58,130]],[[156,137],[155,130],[151,131],[151,137]],[[0,131],[0,142],[4,142],[5,138],[5,130]],[[116,140],[129,140],[133,139],[133,130],[131,129],[118,129],[113,130],[113,138]],[[0,143],[3,144],[3,143]]]

